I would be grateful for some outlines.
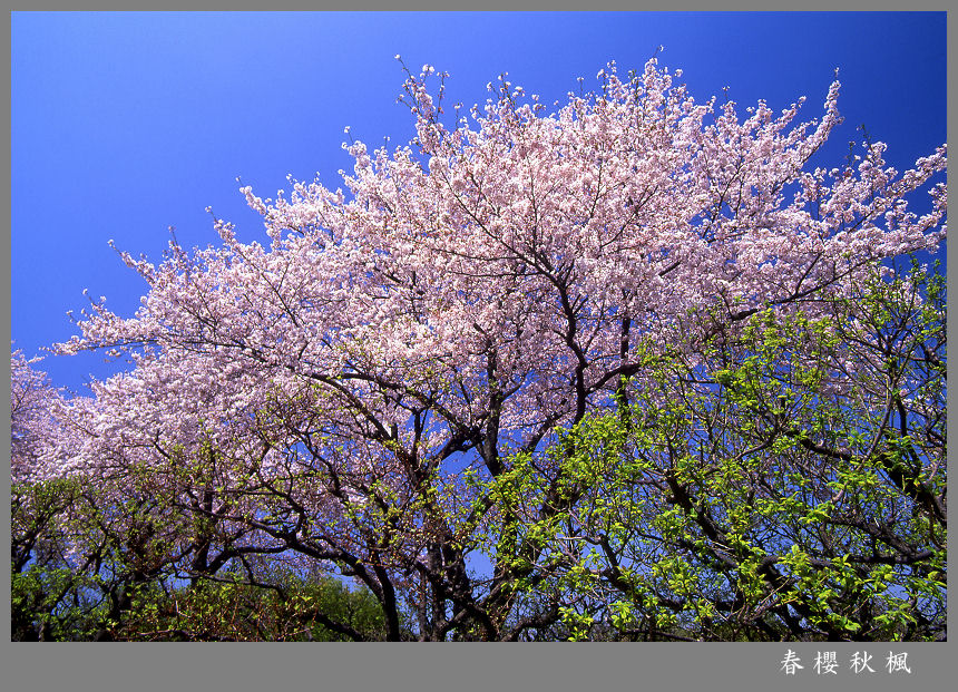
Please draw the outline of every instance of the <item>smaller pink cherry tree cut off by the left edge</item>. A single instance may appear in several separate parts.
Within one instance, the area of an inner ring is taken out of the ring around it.
[[[217,522],[212,484],[221,471],[212,451],[201,457],[202,468],[170,464],[160,472],[148,461],[166,450],[154,444],[145,452],[131,442],[143,439],[140,429],[98,426],[107,410],[120,415],[119,423],[133,420],[121,413],[135,401],[130,387],[117,399],[109,386],[95,383],[95,397],[67,401],[35,362],[19,351],[11,357],[11,547],[14,602],[22,606],[14,636],[77,631],[78,617],[96,621],[97,611],[116,623],[157,581],[189,577],[195,584],[229,559],[281,552],[248,540],[245,525]],[[137,410],[146,415],[146,402]],[[180,450],[174,441],[166,454],[182,461]]]

